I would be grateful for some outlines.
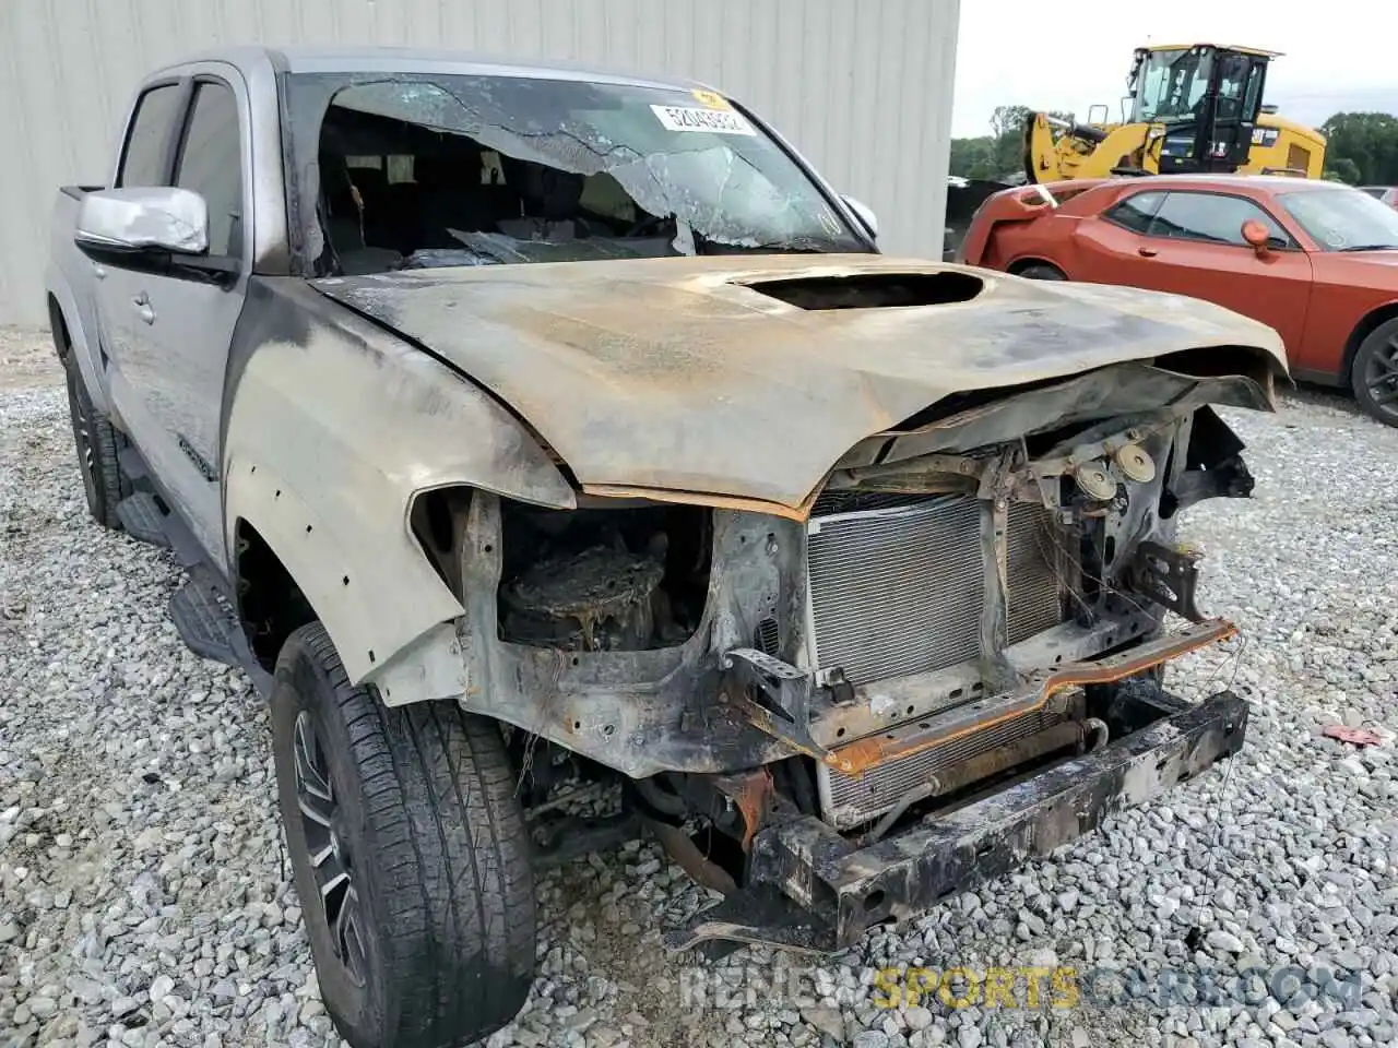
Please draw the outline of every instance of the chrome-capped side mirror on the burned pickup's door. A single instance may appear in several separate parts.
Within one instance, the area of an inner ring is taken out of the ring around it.
[[[96,190],[82,197],[73,239],[82,252],[109,259],[206,254],[208,205],[199,193],[173,186]]]

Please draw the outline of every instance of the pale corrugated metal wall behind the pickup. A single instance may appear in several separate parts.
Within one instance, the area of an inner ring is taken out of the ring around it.
[[[152,67],[222,43],[562,57],[721,87],[768,117],[891,253],[941,257],[958,0],[0,1],[0,323],[45,323],[53,191],[108,177]]]

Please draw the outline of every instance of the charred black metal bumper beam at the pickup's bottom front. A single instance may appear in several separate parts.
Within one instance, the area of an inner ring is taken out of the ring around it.
[[[814,816],[779,822],[754,840],[748,886],[667,933],[667,943],[843,950],[871,925],[914,917],[1047,855],[1232,756],[1247,715],[1244,700],[1219,692],[865,848]]]

